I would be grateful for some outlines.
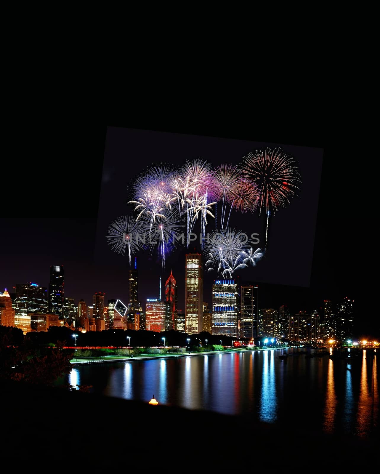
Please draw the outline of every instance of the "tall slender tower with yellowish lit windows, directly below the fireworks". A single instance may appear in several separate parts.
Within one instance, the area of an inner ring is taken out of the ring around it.
[[[185,261],[185,332],[197,334],[203,325],[203,262],[201,254]]]

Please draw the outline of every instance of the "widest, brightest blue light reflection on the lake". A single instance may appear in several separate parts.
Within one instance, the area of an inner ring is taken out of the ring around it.
[[[273,423],[277,418],[276,381],[274,376],[273,350],[263,353],[260,419]],[[270,359],[270,360],[269,360]]]

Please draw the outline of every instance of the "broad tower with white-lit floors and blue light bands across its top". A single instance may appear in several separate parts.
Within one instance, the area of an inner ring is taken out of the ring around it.
[[[239,300],[236,280],[215,280],[212,285],[212,334],[238,337]]]

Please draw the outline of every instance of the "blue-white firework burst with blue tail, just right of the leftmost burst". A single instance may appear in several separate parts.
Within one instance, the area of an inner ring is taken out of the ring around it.
[[[182,235],[183,222],[177,208],[166,208],[163,215],[155,216],[153,224],[147,215],[141,220],[144,231],[144,248],[153,250],[155,247],[161,256],[161,263],[165,267],[165,254],[176,246],[176,241]],[[183,240],[182,240],[183,243]]]

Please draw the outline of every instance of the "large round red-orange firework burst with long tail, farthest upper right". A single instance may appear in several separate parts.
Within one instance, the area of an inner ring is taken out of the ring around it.
[[[255,154],[244,156],[242,172],[248,182],[258,186],[261,193],[260,214],[265,208],[267,215],[266,250],[271,210],[274,212],[279,207],[285,207],[299,190],[297,184],[300,179],[296,160],[281,148],[266,148],[265,152],[256,150]]]

